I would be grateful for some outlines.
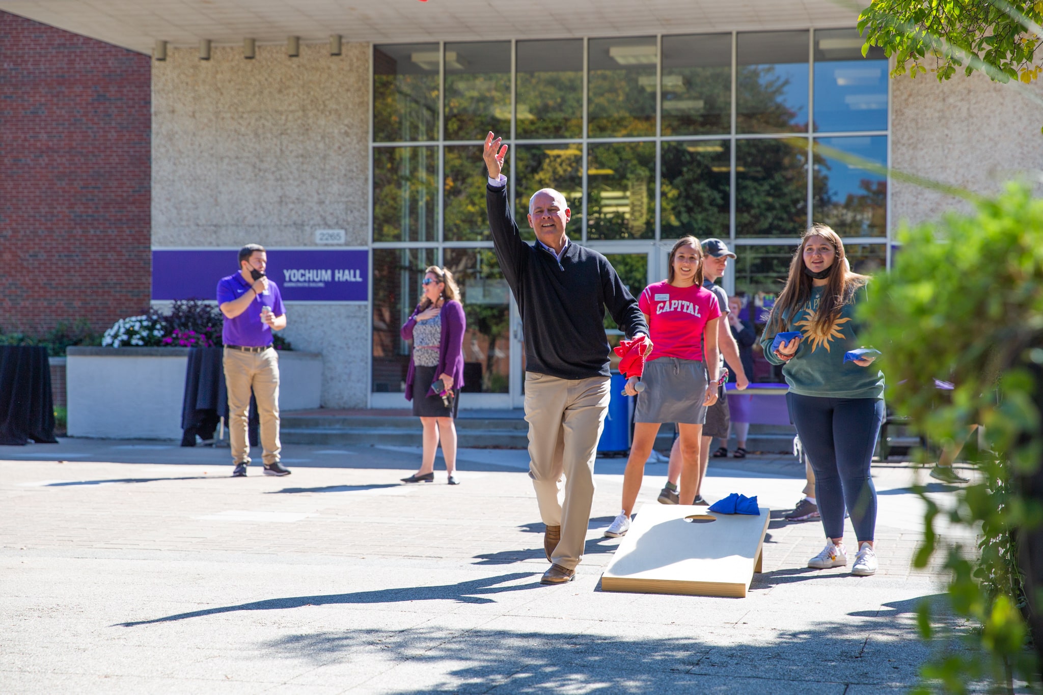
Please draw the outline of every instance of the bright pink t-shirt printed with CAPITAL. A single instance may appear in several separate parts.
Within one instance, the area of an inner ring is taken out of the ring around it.
[[[637,305],[649,317],[655,347],[649,361],[659,357],[703,358],[703,328],[721,316],[717,297],[706,288],[675,288],[666,280],[645,288]]]

